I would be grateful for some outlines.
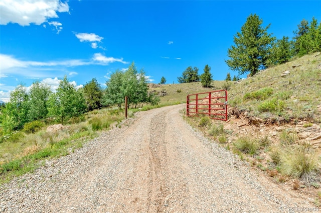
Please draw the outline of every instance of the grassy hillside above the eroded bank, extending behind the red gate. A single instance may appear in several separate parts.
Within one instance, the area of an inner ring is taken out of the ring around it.
[[[215,73],[214,73],[215,75]],[[310,120],[321,122],[321,54],[314,53],[262,70],[235,81],[213,81],[212,88],[200,82],[163,84],[150,90],[166,91],[161,104],[186,102],[191,93],[230,86],[230,106],[265,120]]]

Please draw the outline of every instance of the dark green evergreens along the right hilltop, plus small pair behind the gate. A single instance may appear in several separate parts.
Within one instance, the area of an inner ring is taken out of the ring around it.
[[[294,56],[321,51],[321,22],[318,24],[314,17],[310,22],[303,19],[293,31],[294,37],[291,40],[287,36],[277,39],[267,32],[271,24],[265,27],[262,24],[263,20],[257,14],[250,14],[241,30],[234,35],[235,44],[228,49],[230,59],[225,62],[231,70],[238,71],[238,74],[232,79],[228,72],[225,80],[239,80],[242,74],[249,73],[252,76],[260,69],[285,63]],[[199,75],[196,66],[189,66],[178,77],[178,81],[201,81],[204,87],[210,87],[213,77],[209,73],[210,68],[206,65],[204,73]]]

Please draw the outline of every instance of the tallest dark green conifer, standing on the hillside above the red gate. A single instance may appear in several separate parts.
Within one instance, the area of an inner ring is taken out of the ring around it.
[[[241,32],[234,35],[235,45],[228,49],[230,59],[225,60],[231,70],[239,74],[250,72],[254,75],[260,68],[267,65],[270,48],[275,37],[267,33],[270,27],[261,26],[263,20],[256,14],[250,14]]]

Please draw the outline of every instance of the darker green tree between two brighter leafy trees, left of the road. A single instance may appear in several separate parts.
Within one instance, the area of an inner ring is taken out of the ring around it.
[[[103,91],[96,78],[92,78],[91,81],[84,85],[84,96],[87,104],[87,110],[101,108],[101,99]]]

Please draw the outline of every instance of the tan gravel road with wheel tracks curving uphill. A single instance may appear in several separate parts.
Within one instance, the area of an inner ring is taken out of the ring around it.
[[[182,118],[137,112],[75,152],[0,186],[0,212],[294,212],[312,208]]]

